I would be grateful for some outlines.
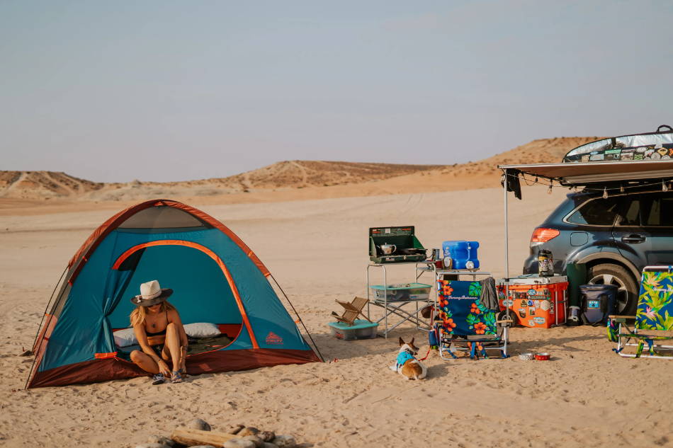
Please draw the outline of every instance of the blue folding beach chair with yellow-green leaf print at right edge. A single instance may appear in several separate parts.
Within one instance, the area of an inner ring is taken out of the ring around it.
[[[633,318],[635,322],[629,326],[626,321]],[[608,316],[608,338],[617,343],[612,350],[619,356],[673,359],[673,345],[662,345],[673,335],[652,334],[654,331],[673,331],[673,266],[643,268],[635,316]],[[647,354],[643,355],[645,344]],[[635,347],[635,353],[623,353],[626,347]]]

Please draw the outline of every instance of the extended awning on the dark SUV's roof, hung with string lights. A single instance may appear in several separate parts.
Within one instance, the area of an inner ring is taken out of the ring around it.
[[[657,161],[610,161],[498,165],[502,171],[555,180],[561,185],[589,185],[629,180],[673,178],[673,159]]]

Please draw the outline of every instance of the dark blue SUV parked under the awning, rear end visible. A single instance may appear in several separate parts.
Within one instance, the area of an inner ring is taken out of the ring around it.
[[[651,189],[567,195],[533,231],[524,274],[538,272],[541,249],[564,275],[567,263],[586,263],[587,282],[618,286],[618,312],[635,315],[643,268],[673,265],[673,192]]]

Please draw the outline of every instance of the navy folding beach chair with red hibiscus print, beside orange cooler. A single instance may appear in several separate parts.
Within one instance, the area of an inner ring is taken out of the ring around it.
[[[456,359],[453,350],[470,352],[470,359],[473,360],[477,360],[479,355],[488,357],[486,350],[499,350],[502,357],[509,356],[507,327],[512,321],[498,320],[496,311],[481,303],[482,285],[482,282],[463,280],[437,282],[439,313],[435,318],[435,328],[438,331],[441,359],[449,359],[445,355]]]

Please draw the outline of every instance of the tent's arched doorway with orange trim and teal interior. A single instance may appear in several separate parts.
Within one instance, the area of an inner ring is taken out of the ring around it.
[[[215,323],[231,343],[247,323],[238,290],[217,255],[190,241],[161,240],[138,244],[115,260],[108,282],[118,284],[115,296],[120,299],[108,315],[110,328],[130,326],[135,309],[130,299],[149,280],[173,289],[168,301],[178,309],[183,324]],[[225,346],[217,341],[212,345],[220,345],[217,350]],[[205,351],[210,350],[215,348]]]

